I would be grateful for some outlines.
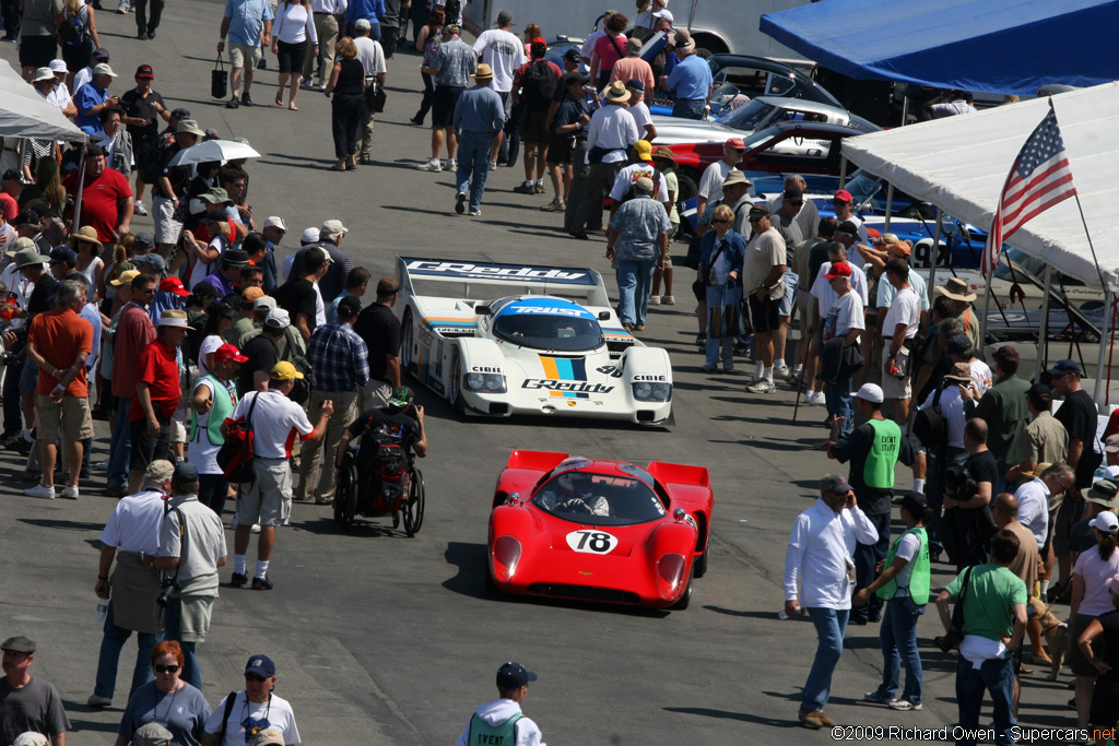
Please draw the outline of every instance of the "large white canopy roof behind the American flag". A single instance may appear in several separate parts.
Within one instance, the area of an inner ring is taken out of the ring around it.
[[[1119,289],[1119,84],[1053,97],[1073,183],[1083,205],[1103,280]],[[1045,117],[1037,98],[844,140],[847,160],[896,189],[989,230],[998,197],[1026,138]],[[1006,242],[1099,287],[1073,199],[1042,213]]]

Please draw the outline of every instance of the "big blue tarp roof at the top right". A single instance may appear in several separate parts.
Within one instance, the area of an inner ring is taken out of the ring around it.
[[[1117,29],[1117,0],[822,0],[761,18],[856,79],[1021,95],[1119,79]]]

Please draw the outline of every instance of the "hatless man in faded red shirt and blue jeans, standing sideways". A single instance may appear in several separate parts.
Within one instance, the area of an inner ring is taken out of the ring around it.
[[[154,275],[141,274],[132,278],[132,300],[121,311],[113,337],[113,396],[116,397],[116,425],[109,446],[110,495],[123,498],[129,484],[129,465],[132,461],[132,428],[129,415],[137,395],[137,366],[134,361],[148,344],[156,340],[156,328],[148,317],[148,304],[156,299]],[[178,380],[178,379],[176,379]]]

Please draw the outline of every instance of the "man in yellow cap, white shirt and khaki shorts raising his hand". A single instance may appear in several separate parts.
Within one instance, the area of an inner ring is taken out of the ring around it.
[[[335,412],[330,399],[319,404],[319,422],[311,426],[303,407],[290,398],[295,379],[303,374],[295,366],[281,360],[272,368],[266,391],[245,395],[233,412],[234,421],[248,422],[253,428],[253,482],[237,490],[237,526],[233,539],[232,585],[239,587],[248,582],[245,553],[248,549],[253,523],[260,523],[256,540],[256,572],[253,591],[271,591],[269,560],[276,541],[276,527],[291,514],[291,443],[295,435],[308,445],[318,445],[327,432],[327,423]],[[329,457],[333,457],[331,454]]]

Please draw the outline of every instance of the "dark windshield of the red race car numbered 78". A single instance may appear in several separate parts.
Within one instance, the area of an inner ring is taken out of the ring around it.
[[[660,498],[641,480],[581,471],[549,479],[533,504],[556,518],[589,526],[634,526],[667,514]]]

